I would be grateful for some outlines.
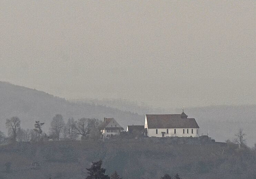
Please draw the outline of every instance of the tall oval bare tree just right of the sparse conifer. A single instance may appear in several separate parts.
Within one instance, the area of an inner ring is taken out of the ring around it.
[[[62,115],[56,114],[52,118],[50,132],[52,133],[52,136],[54,139],[60,140],[60,133],[64,129],[65,123],[63,120]]]

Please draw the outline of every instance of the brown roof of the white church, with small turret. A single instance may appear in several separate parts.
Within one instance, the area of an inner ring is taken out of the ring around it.
[[[146,119],[149,129],[199,128],[196,119],[184,117],[182,114],[146,114]]]

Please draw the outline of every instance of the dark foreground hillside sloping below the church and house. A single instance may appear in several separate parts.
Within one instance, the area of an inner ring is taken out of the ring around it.
[[[255,179],[256,151],[215,144],[177,144],[168,139],[59,141],[0,146],[0,179],[84,179],[102,159],[106,174],[123,179]],[[11,163],[6,172],[6,163]],[[30,164],[38,162],[38,169]]]

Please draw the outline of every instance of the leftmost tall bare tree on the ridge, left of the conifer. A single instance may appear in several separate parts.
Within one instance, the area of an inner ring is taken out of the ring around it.
[[[17,131],[20,128],[20,119],[18,117],[12,117],[6,119],[6,127],[8,129],[8,135],[11,136],[13,141],[16,141]]]

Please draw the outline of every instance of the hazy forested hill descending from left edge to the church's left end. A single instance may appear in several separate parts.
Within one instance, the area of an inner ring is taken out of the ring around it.
[[[101,120],[114,117],[124,128],[126,125],[144,123],[143,115],[129,111],[89,103],[72,103],[42,91],[0,82],[0,131],[6,132],[6,118],[13,116],[21,119],[24,129],[32,129],[34,121],[40,120],[45,123],[43,130],[47,131],[55,114],[63,115],[65,120],[69,117],[94,117]]]

